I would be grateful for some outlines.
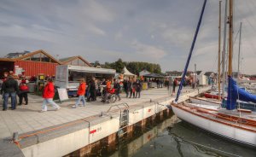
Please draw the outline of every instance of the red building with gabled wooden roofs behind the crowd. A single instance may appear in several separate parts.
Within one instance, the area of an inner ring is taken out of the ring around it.
[[[20,56],[21,54],[21,56]],[[63,62],[56,60],[53,56],[40,49],[34,52],[11,53],[9,58],[0,58],[0,76],[4,72],[14,71],[15,74],[25,73],[26,76],[38,74],[55,75],[55,67],[61,64],[72,64],[91,67],[88,61],[81,56],[69,57]]]

